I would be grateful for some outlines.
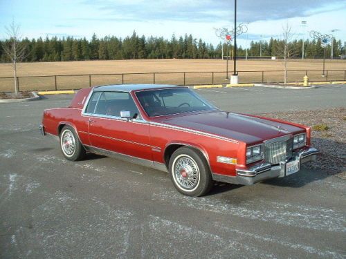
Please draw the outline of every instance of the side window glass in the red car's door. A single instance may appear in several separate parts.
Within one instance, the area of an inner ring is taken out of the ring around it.
[[[95,106],[95,114],[120,117],[120,111],[129,111],[130,116],[140,119],[140,113],[129,93],[102,92]]]

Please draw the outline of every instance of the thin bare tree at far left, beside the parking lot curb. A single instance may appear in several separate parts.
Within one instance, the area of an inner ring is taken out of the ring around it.
[[[20,26],[15,23],[15,20],[12,20],[10,26],[6,26],[5,29],[8,40],[3,42],[2,48],[11,61],[15,78],[15,94],[17,95],[17,64],[26,57],[26,44],[21,41]]]

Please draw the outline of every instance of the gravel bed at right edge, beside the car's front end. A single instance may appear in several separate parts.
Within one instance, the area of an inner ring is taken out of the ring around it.
[[[262,113],[261,115],[297,122],[311,128],[318,124],[326,124],[327,131],[312,130],[311,145],[320,153],[315,162],[304,164],[304,166],[346,179],[346,108]]]

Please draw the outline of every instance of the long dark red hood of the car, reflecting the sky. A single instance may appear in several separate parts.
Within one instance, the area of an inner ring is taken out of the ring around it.
[[[248,144],[302,131],[297,126],[222,111],[165,117],[157,122],[212,133]]]

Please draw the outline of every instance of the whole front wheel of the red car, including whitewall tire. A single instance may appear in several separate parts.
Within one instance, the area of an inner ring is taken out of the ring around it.
[[[170,158],[170,177],[174,187],[188,196],[198,197],[212,187],[212,176],[206,159],[192,148],[181,147]]]

